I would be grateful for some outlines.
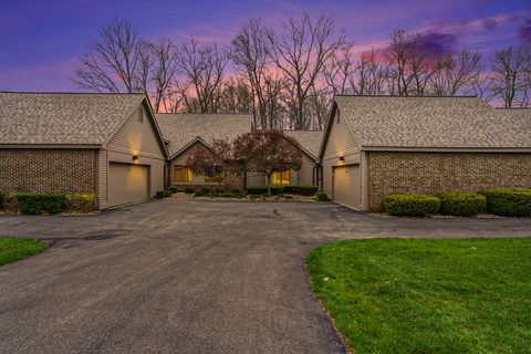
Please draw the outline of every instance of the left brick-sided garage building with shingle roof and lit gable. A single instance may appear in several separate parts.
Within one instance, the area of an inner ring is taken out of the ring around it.
[[[0,190],[98,196],[164,189],[167,150],[144,94],[0,92]]]

